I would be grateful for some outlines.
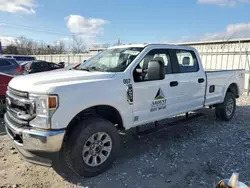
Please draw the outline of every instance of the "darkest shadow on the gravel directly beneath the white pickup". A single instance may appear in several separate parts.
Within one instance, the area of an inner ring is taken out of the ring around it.
[[[209,116],[209,114],[210,116],[214,115],[213,111],[211,113],[211,110],[207,109],[198,111],[197,113],[204,112],[206,113],[206,115],[204,115],[205,118]],[[193,115],[196,115],[197,113],[194,113]],[[170,142],[178,141],[181,137],[188,137],[188,134],[190,132],[195,132],[196,134],[198,134],[197,130],[194,130],[196,129],[195,127],[187,126],[186,123],[182,122],[182,120],[185,118],[185,115],[183,115],[176,118],[163,120],[159,123],[160,131],[152,132],[152,134],[147,134],[140,137],[134,135],[133,130],[129,131],[125,136],[122,136],[121,152],[115,164],[111,169],[100,174],[99,176],[92,178],[82,178],[80,176],[77,176],[71,169],[68,168],[65,163],[62,163],[62,161],[64,161],[63,158],[59,158],[58,160],[56,160],[53,168],[65,180],[77,185],[79,185],[80,183],[82,186],[86,186],[86,183],[88,184],[90,182],[100,181],[100,178],[103,180],[107,180],[106,176],[113,177],[114,175],[118,175],[117,169],[121,167],[123,168],[124,165],[127,166],[129,160],[138,156],[143,156],[149,150],[156,149],[159,145],[162,148],[167,149]],[[199,117],[198,119],[200,118],[203,118],[203,116]],[[198,119],[194,119],[193,121],[197,121]],[[178,121],[182,123],[177,123],[174,126],[168,126],[169,124],[171,125],[173,122]],[[190,122],[188,122],[188,125],[189,124]],[[162,129],[163,127],[164,129]]]

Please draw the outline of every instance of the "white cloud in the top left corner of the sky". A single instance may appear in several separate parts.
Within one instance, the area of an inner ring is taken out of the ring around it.
[[[0,11],[35,14],[35,0],[0,0]]]

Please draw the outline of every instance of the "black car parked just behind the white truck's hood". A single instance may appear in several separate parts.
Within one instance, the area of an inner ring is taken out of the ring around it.
[[[56,63],[36,60],[36,61],[31,61],[24,66],[23,74],[45,72],[45,71],[51,71],[51,70],[56,70],[56,69],[61,69],[61,68],[63,67]]]

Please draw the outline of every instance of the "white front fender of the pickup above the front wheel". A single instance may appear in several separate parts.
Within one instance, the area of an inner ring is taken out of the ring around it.
[[[125,129],[133,124],[133,106],[126,100],[126,87],[122,82],[85,83],[70,90],[72,92],[59,94],[59,108],[52,117],[53,129],[66,128],[81,111],[98,105],[115,108],[120,113]]]

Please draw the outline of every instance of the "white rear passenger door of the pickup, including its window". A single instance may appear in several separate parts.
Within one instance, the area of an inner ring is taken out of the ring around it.
[[[206,77],[191,50],[171,50],[175,70],[170,78],[173,110],[177,114],[200,109],[204,104]]]

